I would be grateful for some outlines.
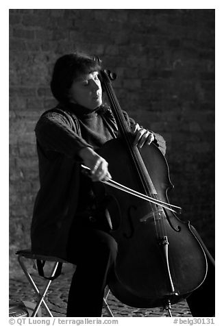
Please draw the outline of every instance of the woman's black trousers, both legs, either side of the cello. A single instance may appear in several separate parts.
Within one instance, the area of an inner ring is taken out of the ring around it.
[[[197,234],[195,229],[193,231]],[[208,260],[208,274],[187,302],[192,316],[211,317],[214,316],[214,260],[200,241]],[[76,264],[77,268],[71,281],[66,316],[101,316],[104,289],[116,260],[116,241],[102,225],[90,221],[75,222],[67,253],[69,262]]]

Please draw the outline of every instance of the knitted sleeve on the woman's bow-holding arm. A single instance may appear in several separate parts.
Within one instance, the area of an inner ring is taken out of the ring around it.
[[[77,134],[66,116],[58,112],[43,114],[36,124],[35,133],[37,142],[45,151],[56,151],[69,158],[78,159],[80,149],[92,148]]]

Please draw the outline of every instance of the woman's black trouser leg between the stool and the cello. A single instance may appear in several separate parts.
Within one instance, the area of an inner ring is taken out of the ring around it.
[[[95,222],[73,223],[67,246],[69,262],[77,265],[67,305],[67,317],[101,316],[103,295],[114,269],[117,244]]]

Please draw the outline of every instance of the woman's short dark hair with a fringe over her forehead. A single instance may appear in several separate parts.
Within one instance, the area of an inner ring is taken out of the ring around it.
[[[100,63],[94,56],[82,52],[63,55],[53,68],[51,92],[59,102],[68,101],[69,89],[79,75],[99,71]]]

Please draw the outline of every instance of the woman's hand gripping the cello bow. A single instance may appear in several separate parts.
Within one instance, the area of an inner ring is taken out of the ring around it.
[[[84,165],[90,168],[92,181],[106,181],[112,178],[108,171],[108,162],[90,147],[82,148],[79,151],[79,156],[82,158]]]

